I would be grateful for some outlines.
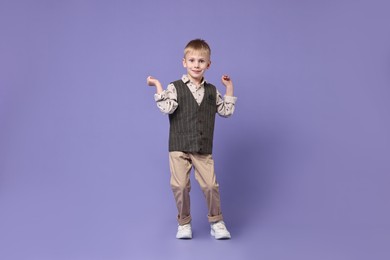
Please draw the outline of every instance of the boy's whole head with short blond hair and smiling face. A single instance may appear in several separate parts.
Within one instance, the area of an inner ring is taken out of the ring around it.
[[[210,67],[210,46],[202,39],[190,41],[184,48],[183,66],[195,83],[201,83],[203,75]]]

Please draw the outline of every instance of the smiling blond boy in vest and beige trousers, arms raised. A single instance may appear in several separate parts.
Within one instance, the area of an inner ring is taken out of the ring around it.
[[[147,84],[156,87],[154,96],[158,108],[169,115],[169,165],[171,188],[178,209],[176,238],[191,239],[190,172],[195,169],[208,207],[211,235],[215,239],[230,239],[223,222],[219,185],[212,158],[215,114],[229,117],[234,112],[236,97],[229,76],[222,76],[226,94],[222,95],[204,79],[210,68],[209,45],[201,39],[190,41],[184,49],[183,66],[187,74],[163,90],[161,83],[149,76]]]

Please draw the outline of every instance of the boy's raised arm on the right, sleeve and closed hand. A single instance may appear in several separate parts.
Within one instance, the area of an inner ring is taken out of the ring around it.
[[[237,98],[233,96],[233,82],[228,75],[222,76],[222,84],[226,87],[225,96],[217,91],[217,113],[222,117],[229,117],[234,113]]]

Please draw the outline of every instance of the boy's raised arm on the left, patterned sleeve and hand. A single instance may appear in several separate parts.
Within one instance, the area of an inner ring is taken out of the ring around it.
[[[160,111],[164,114],[172,114],[175,112],[178,106],[175,86],[173,84],[169,84],[167,89],[164,90],[161,83],[157,79],[149,76],[146,81],[149,86],[156,87],[154,100],[156,101],[157,107],[160,109]]]

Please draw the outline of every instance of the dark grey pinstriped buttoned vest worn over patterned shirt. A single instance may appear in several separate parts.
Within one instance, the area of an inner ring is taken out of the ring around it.
[[[198,105],[182,80],[173,82],[177,91],[178,107],[169,115],[169,151],[211,154],[217,89],[205,83],[204,97]]]

